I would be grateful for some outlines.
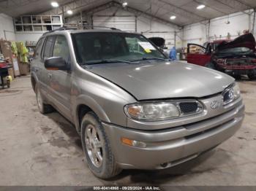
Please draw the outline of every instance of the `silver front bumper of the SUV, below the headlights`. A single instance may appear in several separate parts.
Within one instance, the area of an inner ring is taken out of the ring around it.
[[[244,119],[242,101],[224,114],[163,130],[135,130],[103,123],[121,168],[161,169],[190,160],[233,136]],[[121,137],[143,141],[146,148],[121,143]]]

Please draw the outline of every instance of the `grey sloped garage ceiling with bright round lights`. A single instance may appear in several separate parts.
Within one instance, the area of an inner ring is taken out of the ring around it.
[[[50,10],[51,14],[60,14],[61,9],[53,9],[50,2],[53,0],[0,0],[0,13],[12,17],[20,15],[37,15]],[[94,9],[111,1],[121,4],[124,0],[54,0],[64,11],[72,9],[75,14],[80,11]],[[159,17],[165,22],[184,26],[202,20],[228,15],[256,7],[256,0],[127,0],[128,6],[146,12],[151,16]],[[199,4],[205,4],[204,9],[196,9]],[[170,20],[170,15],[176,15],[176,20]]]

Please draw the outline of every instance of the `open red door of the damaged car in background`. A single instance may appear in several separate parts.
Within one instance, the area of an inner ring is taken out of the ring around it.
[[[211,51],[207,50],[211,50],[211,48],[206,49],[199,44],[187,44],[187,62],[205,66],[211,61]]]

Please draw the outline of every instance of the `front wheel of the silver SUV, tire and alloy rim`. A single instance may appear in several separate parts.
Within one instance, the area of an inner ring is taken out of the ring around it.
[[[87,163],[95,176],[109,179],[121,172],[113,156],[108,136],[94,112],[87,113],[82,119],[81,140]]]

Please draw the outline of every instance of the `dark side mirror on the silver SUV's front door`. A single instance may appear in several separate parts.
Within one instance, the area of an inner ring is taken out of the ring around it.
[[[51,57],[45,60],[45,69],[69,70],[69,66],[62,57]]]

